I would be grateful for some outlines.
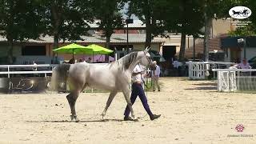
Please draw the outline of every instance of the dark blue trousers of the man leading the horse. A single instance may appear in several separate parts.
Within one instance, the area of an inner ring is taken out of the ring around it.
[[[132,91],[131,91],[131,95],[130,95],[130,101],[132,104],[134,104],[137,96],[141,99],[142,101],[142,105],[144,106],[144,109],[146,110],[147,114],[150,115],[150,117],[153,116],[151,110],[150,110],[150,106],[147,103],[147,99],[146,99],[146,95],[144,93],[144,90],[142,88],[142,84],[141,83],[133,83],[132,84]],[[126,106],[126,110],[125,110],[125,117],[128,117],[130,114],[130,109],[128,107],[128,105]]]

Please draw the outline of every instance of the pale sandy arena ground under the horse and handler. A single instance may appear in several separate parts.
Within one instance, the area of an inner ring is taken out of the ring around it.
[[[1,94],[0,143],[256,143],[256,95],[218,93],[214,81],[161,78],[162,91],[148,92],[150,121],[139,99],[138,122],[124,122],[118,93],[102,122],[108,94],[81,94],[80,122],[70,122],[66,94]],[[144,117],[145,116],[145,117]],[[238,124],[244,126],[237,132]]]

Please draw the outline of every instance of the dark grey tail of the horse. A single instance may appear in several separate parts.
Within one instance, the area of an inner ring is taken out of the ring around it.
[[[66,80],[69,73],[68,70],[70,70],[69,63],[62,63],[54,67],[50,80],[51,90],[58,90],[60,87],[66,85]]]

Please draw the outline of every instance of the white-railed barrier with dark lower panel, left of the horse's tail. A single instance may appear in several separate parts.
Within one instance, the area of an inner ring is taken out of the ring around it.
[[[0,65],[0,92],[44,91],[54,66],[57,65]]]

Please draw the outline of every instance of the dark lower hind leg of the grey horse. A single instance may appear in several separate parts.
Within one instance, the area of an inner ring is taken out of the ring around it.
[[[80,92],[79,90],[72,91],[70,94],[68,94],[66,96],[66,99],[70,104],[70,110],[71,110],[70,118],[71,118],[71,120],[74,119],[75,121],[78,121],[78,117],[77,117],[77,114],[76,114],[76,111],[75,111],[75,102],[78,99],[79,92]]]

